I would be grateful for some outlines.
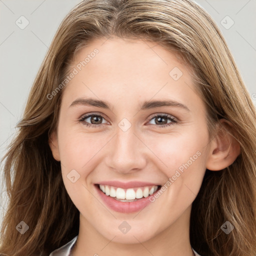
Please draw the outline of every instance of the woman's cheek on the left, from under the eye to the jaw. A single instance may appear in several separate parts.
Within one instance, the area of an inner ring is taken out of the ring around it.
[[[65,189],[79,211],[83,212],[84,202],[93,203],[87,184],[90,183],[89,174],[95,168],[95,159],[106,138],[99,133],[86,134],[80,129],[66,128],[59,129],[58,140]]]

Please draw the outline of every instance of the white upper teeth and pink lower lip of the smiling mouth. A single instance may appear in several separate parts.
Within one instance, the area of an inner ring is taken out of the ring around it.
[[[121,188],[105,184],[94,184],[103,202],[114,211],[131,213],[143,209],[151,201],[150,197],[161,185]]]

